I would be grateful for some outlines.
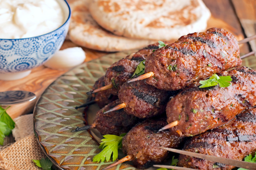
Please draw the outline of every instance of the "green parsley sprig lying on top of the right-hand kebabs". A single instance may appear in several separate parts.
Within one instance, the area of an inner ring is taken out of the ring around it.
[[[231,81],[231,76],[218,76],[217,74],[213,74],[208,80],[200,81],[199,83],[202,85],[199,86],[199,88],[216,86],[217,84],[220,87],[229,87]]]

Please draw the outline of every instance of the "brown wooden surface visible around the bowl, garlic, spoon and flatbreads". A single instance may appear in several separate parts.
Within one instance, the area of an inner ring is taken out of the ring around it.
[[[203,0],[205,5],[212,13],[208,21],[208,28],[224,28],[233,33],[238,40],[256,34],[256,0]],[[71,41],[65,41],[61,49],[77,46]],[[83,48],[86,53],[85,62],[104,56],[105,52]],[[250,51],[256,51],[256,40],[240,46],[241,55]],[[253,69],[256,69],[256,58],[254,56],[243,59],[243,63],[250,63]],[[67,71],[67,70],[66,70]],[[26,78],[13,81],[0,80],[0,92],[9,90],[25,90],[34,92],[39,99],[44,90],[56,78],[66,71],[52,70],[40,66],[32,70]],[[7,113],[12,117],[18,117],[22,114],[32,113],[36,100],[24,104],[11,106]],[[5,139],[7,143],[14,142],[13,137]]]

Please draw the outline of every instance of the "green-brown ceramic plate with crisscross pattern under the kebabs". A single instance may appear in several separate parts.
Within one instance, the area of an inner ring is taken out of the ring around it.
[[[101,151],[98,149],[101,135],[97,130],[91,130],[91,134],[88,131],[71,132],[77,126],[84,126],[85,121],[83,110],[74,108],[85,102],[86,92],[112,63],[130,53],[108,54],[76,67],[53,82],[39,99],[34,111],[35,135],[43,151],[60,169],[99,170],[112,164],[92,162],[93,156]],[[255,61],[251,56],[243,60],[243,65],[256,69]],[[92,124],[98,109],[96,105],[89,107],[89,124]],[[136,168],[120,164],[113,169]]]

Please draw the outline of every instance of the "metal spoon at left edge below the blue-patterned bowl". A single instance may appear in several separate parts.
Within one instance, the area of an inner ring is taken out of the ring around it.
[[[29,91],[5,91],[0,92],[0,104],[20,104],[36,99],[36,95]]]

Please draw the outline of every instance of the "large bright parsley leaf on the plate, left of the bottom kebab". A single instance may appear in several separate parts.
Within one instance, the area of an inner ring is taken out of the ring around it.
[[[122,147],[122,141],[125,134],[117,135],[104,135],[104,139],[101,139],[99,148],[102,149],[100,154],[93,157],[93,162],[108,162],[112,156],[113,161],[117,159],[118,149]],[[113,153],[113,155],[112,155]]]

